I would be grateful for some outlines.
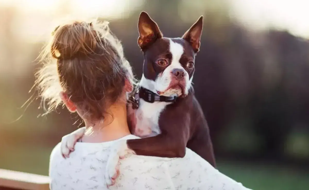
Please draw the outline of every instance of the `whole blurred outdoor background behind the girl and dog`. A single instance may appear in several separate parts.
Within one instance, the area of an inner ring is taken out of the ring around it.
[[[193,82],[218,169],[255,190],[307,188],[306,7],[301,0],[1,0],[0,168],[48,175],[53,147],[83,125],[62,108],[42,116],[36,91],[29,92],[36,58],[57,22],[109,20],[140,78],[137,21],[146,11],[167,37],[182,36],[204,15]]]

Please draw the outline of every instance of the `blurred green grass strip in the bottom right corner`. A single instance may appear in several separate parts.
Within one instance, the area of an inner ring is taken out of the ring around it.
[[[254,190],[303,190],[309,186],[309,173],[270,165],[218,163],[225,175]]]

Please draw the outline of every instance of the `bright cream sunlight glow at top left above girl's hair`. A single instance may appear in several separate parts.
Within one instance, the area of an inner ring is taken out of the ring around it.
[[[0,0],[0,8],[17,11],[12,32],[29,42],[44,41],[59,20],[123,17],[143,0]],[[22,30],[21,30],[22,29]]]

